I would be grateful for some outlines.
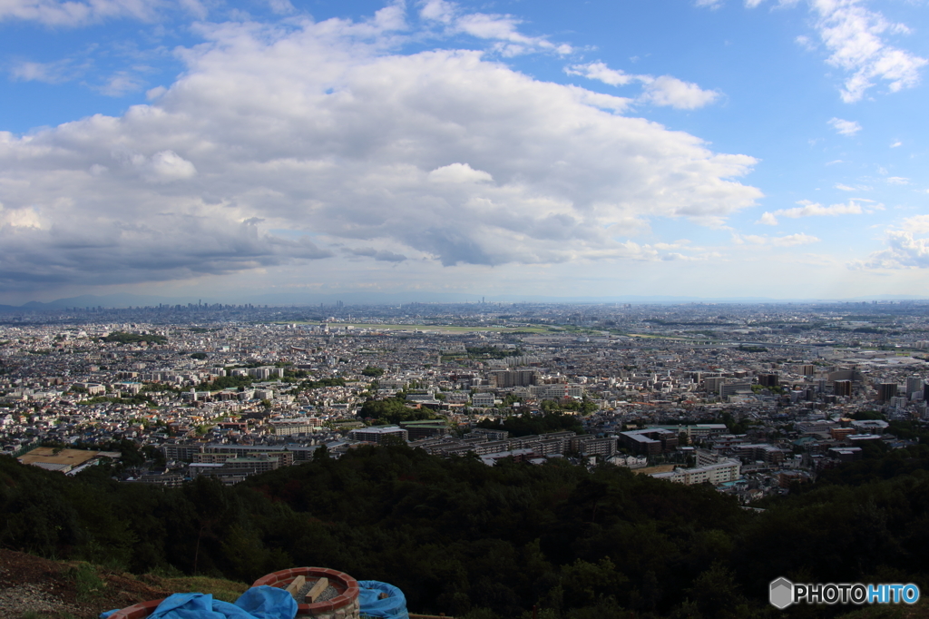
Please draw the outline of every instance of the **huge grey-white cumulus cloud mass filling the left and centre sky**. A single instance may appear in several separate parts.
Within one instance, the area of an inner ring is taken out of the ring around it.
[[[479,51],[400,54],[402,7],[382,11],[202,24],[150,105],[0,134],[0,200],[42,224],[0,228],[0,282],[183,279],[346,247],[447,266],[648,259],[625,239],[650,218],[720,225],[761,197],[736,180],[750,156]]]

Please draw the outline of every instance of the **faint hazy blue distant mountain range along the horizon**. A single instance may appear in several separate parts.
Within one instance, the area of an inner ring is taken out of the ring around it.
[[[199,303],[203,301],[206,304],[229,303],[229,304],[246,304],[268,305],[271,307],[287,306],[334,306],[336,302],[342,301],[346,305],[399,305],[405,303],[478,303],[483,298],[487,303],[656,303],[656,304],[676,304],[676,303],[832,303],[832,302],[862,302],[862,301],[902,301],[902,300],[926,300],[926,296],[902,296],[902,295],[879,295],[879,296],[857,296],[844,299],[811,299],[811,298],[790,298],[778,299],[765,296],[730,296],[730,297],[697,297],[697,296],[543,296],[543,295],[501,295],[481,297],[477,295],[463,295],[455,293],[427,293],[427,292],[402,292],[402,293],[346,293],[334,295],[305,295],[305,294],[270,294],[256,296],[242,296],[236,300],[216,299],[216,298],[191,298],[191,297],[167,297],[167,296],[148,296],[148,295],[82,295],[59,298],[54,301],[41,302],[30,301],[20,306],[0,305],[0,312],[21,312],[21,311],[47,311],[47,310],[65,310],[68,308],[138,308],[138,307],[157,307],[159,304],[164,305],[187,305],[188,303]]]

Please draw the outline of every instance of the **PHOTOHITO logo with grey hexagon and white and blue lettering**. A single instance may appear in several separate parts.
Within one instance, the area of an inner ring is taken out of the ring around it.
[[[914,604],[920,587],[907,585],[864,585],[862,583],[799,584],[786,578],[771,581],[772,606],[783,610],[791,604]]]

